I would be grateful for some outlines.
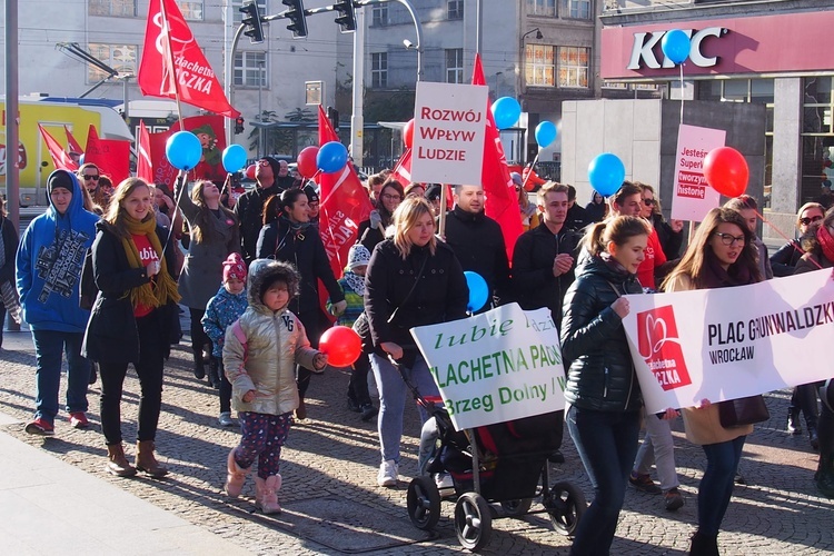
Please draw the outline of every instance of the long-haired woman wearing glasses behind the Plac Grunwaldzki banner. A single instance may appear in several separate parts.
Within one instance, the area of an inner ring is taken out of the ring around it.
[[[664,281],[665,291],[728,288],[762,280],[753,244],[755,236],[732,209],[711,210],[695,232],[681,264]],[[706,454],[706,470],[698,485],[698,530],[689,554],[718,554],[718,529],[733,495],[744,440],[753,425],[725,428],[718,405],[708,399],[682,409],[686,438]]]

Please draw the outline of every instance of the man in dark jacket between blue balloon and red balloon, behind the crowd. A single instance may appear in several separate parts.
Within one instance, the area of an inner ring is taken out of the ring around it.
[[[286,180],[281,183],[276,179],[280,171],[280,162],[272,157],[258,160],[255,166],[257,187],[240,196],[235,203],[235,214],[240,222],[240,247],[247,265],[255,259],[258,234],[264,227],[264,203],[274,195],[281,195],[287,188]]]

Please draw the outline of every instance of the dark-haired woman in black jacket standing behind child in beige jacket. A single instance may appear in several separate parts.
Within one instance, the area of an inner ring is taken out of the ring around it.
[[[289,309],[307,329],[310,345],[318,348],[319,338],[330,327],[321,309],[318,281],[321,280],[327,288],[335,315],[345,312],[347,302],[330,268],[318,228],[310,226],[309,200],[302,189],[288,189],[280,197],[270,197],[264,205],[264,228],[258,236],[256,257],[291,262],[301,275],[298,296],[290,301]],[[307,418],[305,396],[311,375],[308,368],[296,366],[297,419]]]

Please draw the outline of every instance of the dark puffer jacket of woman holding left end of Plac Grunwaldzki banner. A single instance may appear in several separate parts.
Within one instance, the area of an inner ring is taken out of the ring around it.
[[[562,318],[562,355],[567,368],[565,399],[597,411],[635,411],[639,385],[623,320],[610,305],[624,294],[642,294],[635,275],[589,257],[567,290]]]

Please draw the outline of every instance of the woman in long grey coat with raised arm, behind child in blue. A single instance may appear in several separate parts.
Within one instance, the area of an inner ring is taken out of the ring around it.
[[[206,376],[206,358],[209,363],[208,379],[212,387],[220,388],[218,361],[211,356],[211,340],[202,329],[206,305],[224,281],[222,264],[231,252],[240,252],[240,236],[235,212],[220,203],[220,190],[208,180],[197,181],[191,195],[180,193],[181,181],[175,186],[175,198],[179,199],[191,239],[188,255],[179,276],[179,292],[182,305],[191,316],[191,351],[193,376],[198,380]],[[205,355],[208,354],[208,355]]]

